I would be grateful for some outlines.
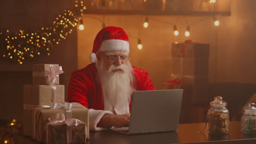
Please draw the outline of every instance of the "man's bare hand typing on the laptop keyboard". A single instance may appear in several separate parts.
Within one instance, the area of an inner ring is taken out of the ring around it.
[[[130,116],[130,113],[125,113],[123,115],[107,114],[101,118],[101,121],[98,122],[97,127],[129,127]]]

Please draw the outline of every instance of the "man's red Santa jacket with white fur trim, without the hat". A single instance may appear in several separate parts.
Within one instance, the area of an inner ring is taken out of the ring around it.
[[[155,90],[146,70],[141,70],[136,67],[132,68],[135,76],[134,88],[136,91]],[[72,73],[68,87],[68,101],[82,104],[90,109],[89,121],[91,130],[104,129],[96,127],[103,115],[107,113],[128,113],[131,109],[130,103],[129,107],[123,107],[123,110],[121,111],[115,109],[115,107],[110,111],[104,110],[104,107],[107,107],[106,105],[108,104],[103,101],[101,83],[97,77],[97,68],[95,63],[91,63],[84,69],[80,69]]]

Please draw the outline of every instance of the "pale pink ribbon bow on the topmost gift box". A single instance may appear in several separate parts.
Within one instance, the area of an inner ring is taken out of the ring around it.
[[[54,83],[56,78],[59,77],[60,74],[63,74],[64,71],[62,67],[54,67],[54,65],[50,65],[50,71],[45,72],[45,76],[48,76],[48,83]]]

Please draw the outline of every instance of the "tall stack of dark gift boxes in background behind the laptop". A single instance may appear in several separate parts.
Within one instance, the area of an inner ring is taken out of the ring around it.
[[[181,75],[193,104],[208,103],[209,44],[172,44],[172,74]],[[186,92],[185,92],[186,93]]]

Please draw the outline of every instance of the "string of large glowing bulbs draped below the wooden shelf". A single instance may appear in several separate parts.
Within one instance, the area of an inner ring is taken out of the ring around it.
[[[144,1],[144,2],[146,2],[146,1]],[[214,4],[214,3],[216,3],[216,0],[202,0],[202,2],[208,2],[208,3],[210,3],[210,4]],[[200,4],[200,5],[201,5],[201,4]],[[85,16],[84,16],[84,17],[85,17]],[[85,18],[96,19],[96,20],[102,22],[102,28],[105,27],[104,20],[102,21],[102,20],[100,20],[100,19],[97,19],[96,17],[85,17]],[[213,19],[213,23],[214,23],[215,26],[219,26],[219,24],[220,24],[220,22],[219,22],[219,20],[217,19],[216,16],[203,18],[202,20],[199,20],[199,21],[196,21],[196,22],[194,22],[194,23],[191,23],[190,25],[189,25],[189,23],[188,23],[187,18],[186,18],[186,17],[184,17],[184,18],[185,18],[185,21],[186,21],[186,23],[187,23],[187,27],[185,28],[186,31],[184,32],[185,37],[189,37],[189,36],[190,36],[190,26],[193,26],[193,25],[195,25],[196,23],[199,23],[199,22],[201,22],[201,21],[205,21],[205,20],[207,20],[207,19],[212,18],[212,19]],[[178,20],[179,20],[179,17],[178,17],[178,19],[177,19],[177,21],[176,21],[175,23],[168,23],[168,22],[164,22],[164,21],[159,21],[159,20],[157,20],[157,19],[154,19],[153,17],[148,17],[148,16],[146,16],[145,19],[144,19],[143,25],[142,25],[143,28],[148,28],[148,27],[149,27],[149,19],[153,19],[153,20],[158,21],[158,22],[161,22],[161,23],[167,23],[167,24],[169,24],[169,25],[173,25],[173,34],[174,34],[175,36],[178,36],[178,35],[180,34],[180,32],[178,31],[178,27],[177,27],[177,22],[178,22]],[[79,30],[81,30],[81,31],[84,30],[83,19],[80,19]],[[138,32],[139,32],[139,33],[141,32],[141,26],[139,27],[139,31],[138,31]],[[143,45],[142,45],[142,40],[139,38],[139,35],[140,35],[140,34],[138,34],[138,37],[134,37],[134,36],[132,36],[132,35],[129,35],[129,37],[137,38],[137,48],[138,48],[139,50],[141,50],[141,49],[143,48]],[[176,43],[177,43],[177,42],[176,42]]]

